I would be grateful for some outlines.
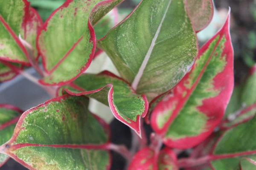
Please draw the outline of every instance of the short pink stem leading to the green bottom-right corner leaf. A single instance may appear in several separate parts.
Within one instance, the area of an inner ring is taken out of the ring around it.
[[[204,156],[199,159],[184,158],[178,160],[178,167],[195,167],[201,164],[207,163],[211,159],[211,156]]]

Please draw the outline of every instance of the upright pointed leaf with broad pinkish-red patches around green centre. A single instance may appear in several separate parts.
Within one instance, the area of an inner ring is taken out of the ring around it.
[[[230,14],[221,30],[200,49],[191,71],[152,112],[151,127],[167,146],[194,147],[224,116],[234,85],[229,25]]]

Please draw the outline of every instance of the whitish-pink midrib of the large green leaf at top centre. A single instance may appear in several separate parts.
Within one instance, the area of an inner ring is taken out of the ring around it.
[[[165,11],[165,13],[163,14],[163,18],[162,18],[162,20],[161,20],[161,22],[160,22],[160,24],[159,24],[159,26],[158,26],[158,28],[157,28],[157,32],[156,32],[156,34],[154,35],[154,38],[153,38],[153,40],[152,40],[152,42],[151,42],[151,45],[150,45],[150,47],[149,47],[149,49],[148,49],[148,52],[147,52],[147,54],[146,54],[146,56],[145,56],[145,58],[144,58],[144,60],[143,60],[143,62],[142,62],[142,65],[140,66],[140,69],[139,69],[137,75],[136,75],[135,78],[134,78],[134,81],[133,81],[132,84],[131,84],[131,87],[132,87],[135,91],[137,90],[137,86],[138,86],[138,84],[139,84],[139,82],[140,82],[140,79],[141,79],[141,77],[142,77],[142,75],[143,75],[143,72],[144,72],[144,70],[145,70],[145,67],[146,67],[146,65],[147,65],[147,63],[148,63],[148,60],[149,60],[150,56],[151,56],[151,53],[152,53],[153,48],[154,48],[154,46],[155,46],[155,42],[156,42],[157,37],[158,37],[158,35],[159,35],[159,33],[160,33],[160,29],[161,29],[161,27],[162,27],[162,24],[163,24],[163,21],[164,21],[164,19],[165,19],[165,17],[166,17],[166,14],[167,14],[167,12],[168,12],[168,9],[169,9],[169,7],[170,7],[170,5],[171,5],[171,2],[172,2],[172,0],[169,0],[169,3],[168,3],[167,8],[166,8],[166,11]]]

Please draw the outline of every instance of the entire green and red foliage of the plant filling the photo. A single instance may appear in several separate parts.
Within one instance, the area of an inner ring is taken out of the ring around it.
[[[11,157],[31,170],[110,170],[113,150],[128,170],[256,169],[256,65],[234,88],[230,12],[199,48],[212,0],[141,0],[116,23],[122,1],[66,0],[42,23],[27,0],[0,0],[0,82],[23,74],[54,94],[24,113],[0,104],[0,166]],[[102,52],[120,76],[84,73]],[[137,134],[131,150],[111,143],[89,98]]]

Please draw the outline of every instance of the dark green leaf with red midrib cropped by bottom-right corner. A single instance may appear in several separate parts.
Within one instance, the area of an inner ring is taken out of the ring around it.
[[[256,159],[255,136],[256,116],[227,130],[217,141],[212,154],[209,155],[213,170],[236,170],[240,159]]]

